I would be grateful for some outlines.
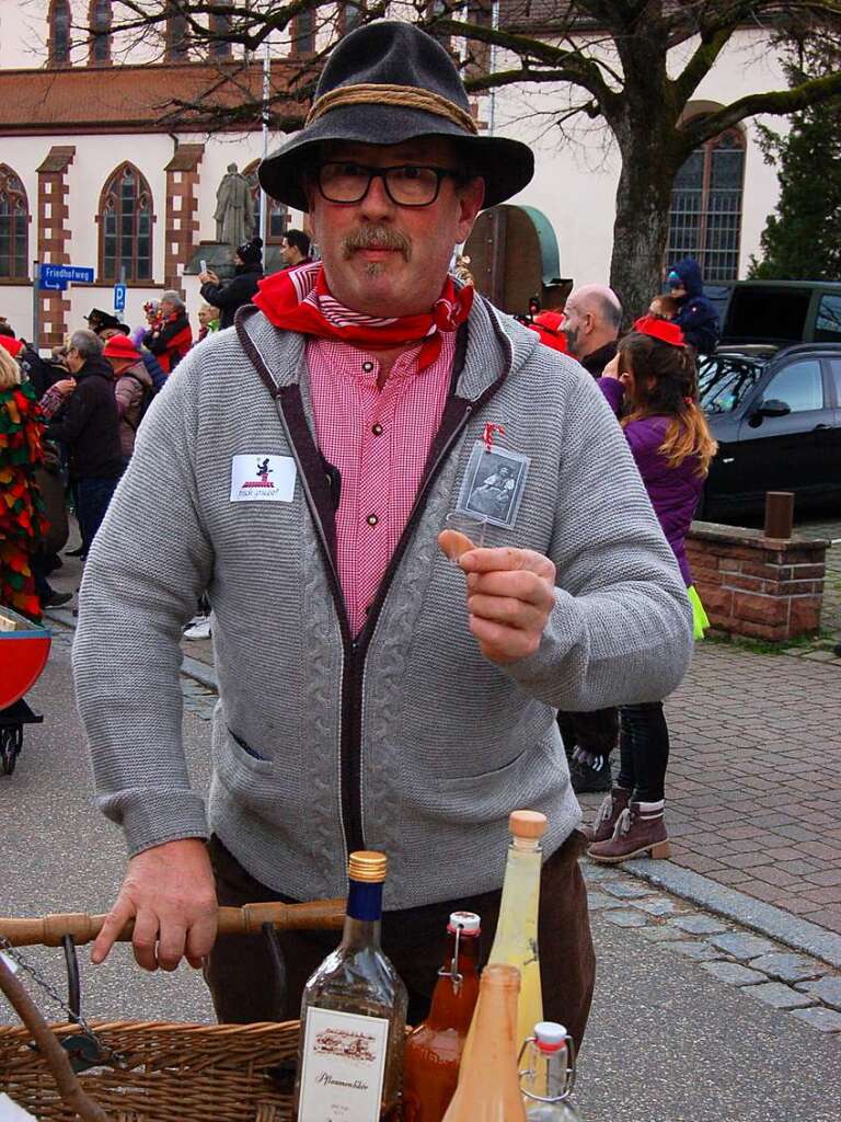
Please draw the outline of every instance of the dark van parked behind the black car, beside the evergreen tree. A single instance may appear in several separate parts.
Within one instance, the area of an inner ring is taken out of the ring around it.
[[[739,280],[727,302],[719,346],[841,343],[841,283]]]

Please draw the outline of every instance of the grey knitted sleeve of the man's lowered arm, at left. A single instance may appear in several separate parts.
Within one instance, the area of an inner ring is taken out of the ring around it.
[[[132,855],[207,836],[181,727],[181,628],[213,561],[195,482],[195,397],[184,377],[153,403],[80,591],[73,668],[96,803],[123,827]]]

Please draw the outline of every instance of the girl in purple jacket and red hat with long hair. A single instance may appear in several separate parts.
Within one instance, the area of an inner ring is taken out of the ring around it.
[[[681,567],[695,637],[701,638],[710,624],[692,587],[685,540],[717,444],[696,403],[694,353],[677,324],[646,315],[620,341],[598,385],[621,416],[651,506]],[[622,706],[620,729],[619,775],[585,830],[589,854],[609,864],[644,853],[667,857],[663,811],[668,728],[663,702]]]

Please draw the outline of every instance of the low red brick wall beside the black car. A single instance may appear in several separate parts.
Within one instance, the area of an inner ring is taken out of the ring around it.
[[[785,642],[817,631],[829,542],[694,522],[686,553],[713,627]]]

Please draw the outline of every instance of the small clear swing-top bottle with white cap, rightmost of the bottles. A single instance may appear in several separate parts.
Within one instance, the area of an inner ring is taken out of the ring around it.
[[[528,1122],[581,1122],[570,1102],[575,1086],[575,1046],[563,1024],[535,1024],[523,1045],[519,1064]]]

